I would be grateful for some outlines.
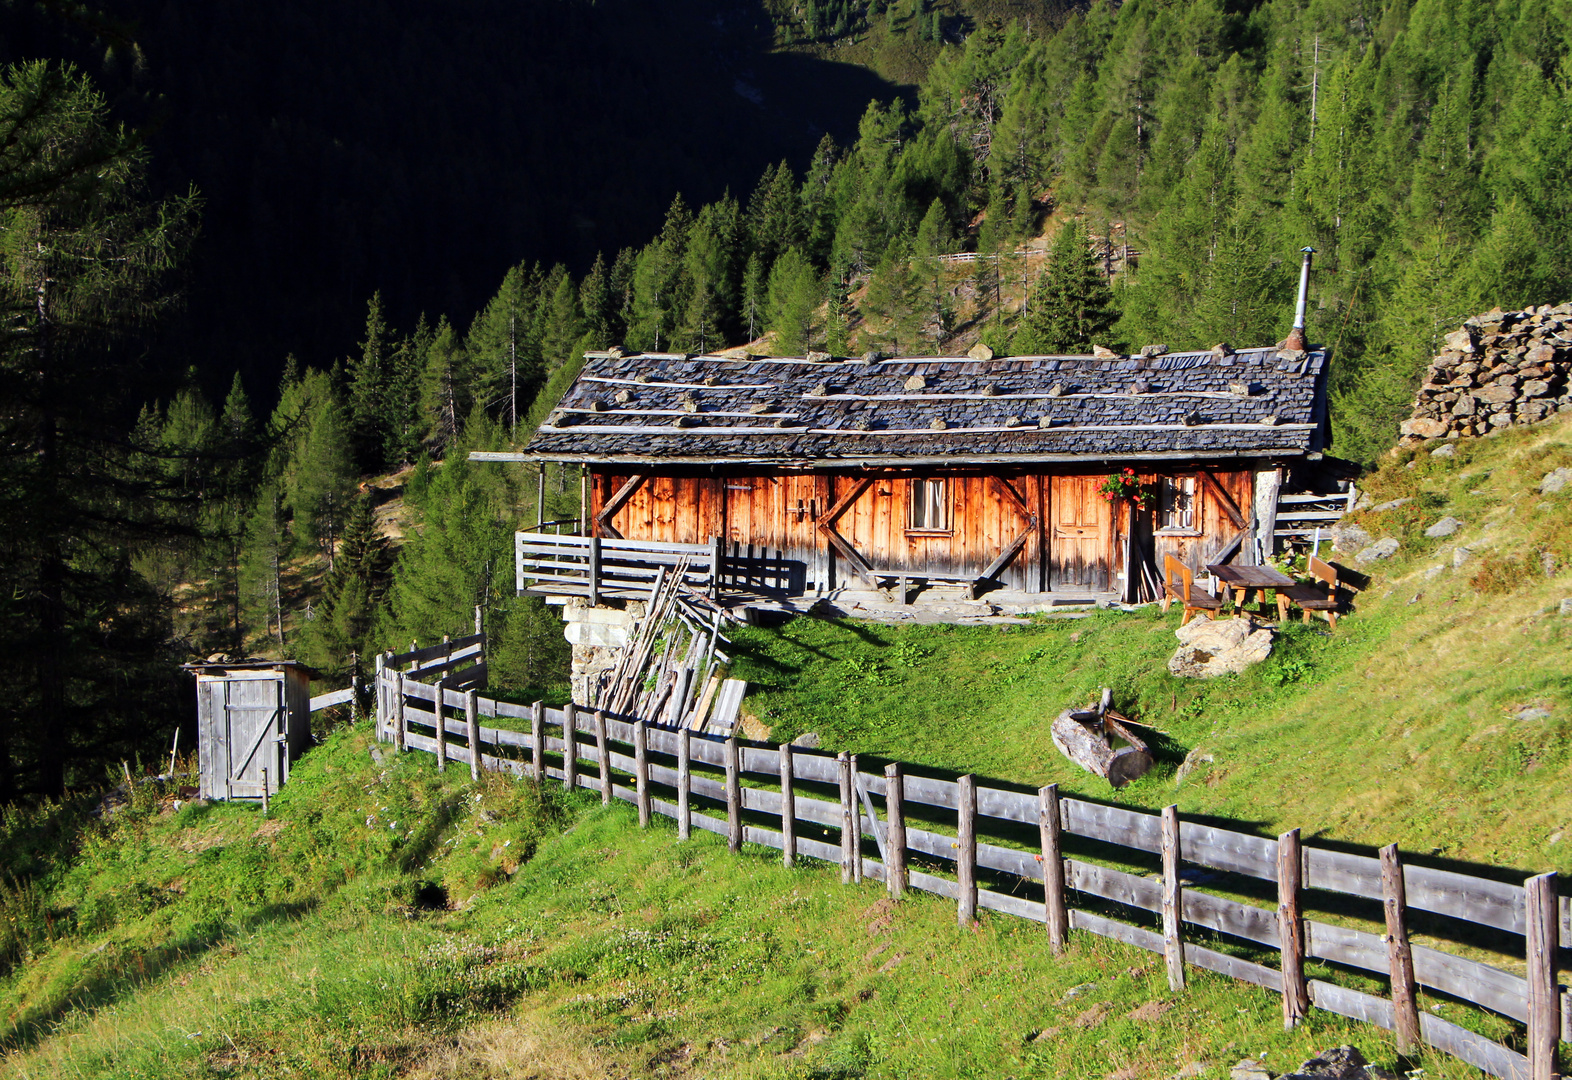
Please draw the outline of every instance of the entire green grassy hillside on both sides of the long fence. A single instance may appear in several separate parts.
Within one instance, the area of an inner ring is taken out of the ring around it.
[[[1368,478],[1346,525],[1399,549],[1368,568],[1355,612],[1335,634],[1289,626],[1242,676],[1170,678],[1177,612],[1154,608],[1006,627],[797,619],[742,632],[734,674],[778,737],[813,729],[828,748],[1177,802],[1262,833],[1302,825],[1324,846],[1398,841],[1440,866],[1569,872],[1572,486],[1539,487],[1572,467],[1572,421],[1446,445]],[[1394,500],[1409,501],[1382,508]],[[1459,531],[1426,538],[1443,516]],[[1160,733],[1159,767],[1121,792],[1045,734],[1100,685]],[[1157,959],[1115,942],[1075,934],[1053,959],[1006,917],[957,932],[937,898],[891,906],[813,860],[731,857],[663,819],[641,832],[630,808],[555,783],[439,775],[365,726],[319,734],[266,821],[179,806],[184,777],[6,813],[0,1074],[1144,1080],[1262,1055],[1283,1072],[1353,1042],[1388,1067],[1478,1075],[1399,1060],[1385,1033],[1324,1012],[1284,1033],[1275,995],[1201,972],[1171,997]]]

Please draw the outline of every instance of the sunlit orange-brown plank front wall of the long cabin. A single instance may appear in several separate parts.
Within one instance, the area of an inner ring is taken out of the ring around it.
[[[1129,503],[1108,501],[1099,492],[1107,475],[591,470],[590,520],[594,534],[621,539],[707,544],[718,536],[728,555],[777,566],[772,577],[799,594],[866,586],[858,558],[879,579],[970,583],[1008,557],[986,575],[997,586],[1064,596],[1124,594],[1127,558],[1162,566],[1163,555],[1174,555],[1196,569],[1225,552],[1237,558],[1245,550],[1248,558],[1248,544],[1234,542],[1232,550],[1229,544],[1247,531],[1242,508],[1254,497],[1251,470],[1193,465],[1141,473],[1152,490],[1165,476],[1190,481],[1188,528],[1163,528],[1159,506],[1132,516]],[[913,523],[913,503],[926,497],[932,505],[935,484],[943,500],[937,527]]]

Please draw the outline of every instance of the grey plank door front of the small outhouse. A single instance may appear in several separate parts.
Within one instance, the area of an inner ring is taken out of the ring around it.
[[[212,744],[212,794],[219,799],[261,799],[283,783],[288,707],[281,674],[261,679],[214,679],[208,684]]]

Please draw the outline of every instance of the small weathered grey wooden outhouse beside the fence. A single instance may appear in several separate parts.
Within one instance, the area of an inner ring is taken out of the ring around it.
[[[292,660],[190,663],[203,799],[261,799],[311,737],[313,671]]]

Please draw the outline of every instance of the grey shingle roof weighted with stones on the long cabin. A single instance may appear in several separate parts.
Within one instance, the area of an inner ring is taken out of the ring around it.
[[[1320,450],[1322,351],[894,360],[586,354],[530,457],[946,462]]]

